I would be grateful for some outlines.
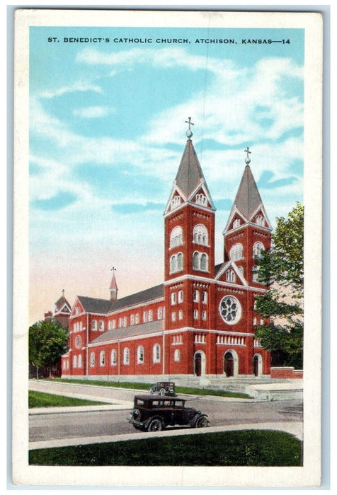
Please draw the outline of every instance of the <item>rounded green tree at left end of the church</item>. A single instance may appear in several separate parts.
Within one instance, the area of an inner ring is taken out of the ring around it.
[[[50,368],[68,350],[68,331],[54,321],[39,321],[29,327],[29,363],[38,371]]]

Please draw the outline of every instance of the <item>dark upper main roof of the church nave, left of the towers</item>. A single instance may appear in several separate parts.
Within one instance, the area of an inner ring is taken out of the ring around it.
[[[164,284],[160,284],[144,291],[125,296],[113,303],[109,299],[98,299],[86,296],[78,296],[81,305],[87,313],[106,314],[111,311],[127,308],[135,304],[146,303],[153,299],[164,297]]]

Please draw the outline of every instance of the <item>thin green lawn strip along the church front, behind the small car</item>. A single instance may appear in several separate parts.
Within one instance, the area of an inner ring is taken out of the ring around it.
[[[47,378],[46,378],[47,380]],[[95,381],[95,380],[67,380],[67,378],[51,378],[53,382],[64,383],[81,383],[82,385],[99,385],[101,387],[115,388],[132,388],[136,390],[148,390],[152,383],[132,383],[132,382],[110,382],[110,381]],[[225,390],[209,390],[207,388],[188,388],[176,387],[177,394],[192,394],[192,395],[218,395],[220,397],[235,397],[236,399],[251,399],[247,394],[238,392],[226,392]]]

